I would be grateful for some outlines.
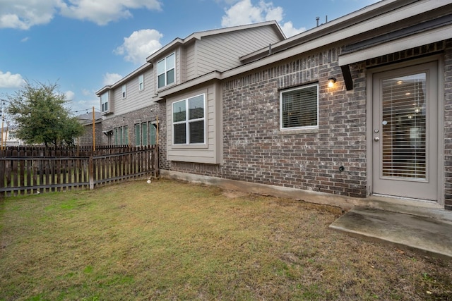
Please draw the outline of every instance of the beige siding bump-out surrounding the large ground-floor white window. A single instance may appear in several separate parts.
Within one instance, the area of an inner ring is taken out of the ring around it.
[[[206,144],[174,146],[172,142],[172,104],[198,94],[206,95]],[[215,84],[167,99],[167,159],[169,161],[221,163],[222,125],[216,122],[220,120],[221,99],[220,87]]]

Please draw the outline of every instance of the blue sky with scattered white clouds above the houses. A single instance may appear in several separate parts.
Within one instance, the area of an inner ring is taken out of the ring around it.
[[[276,20],[286,37],[378,0],[0,0],[0,99],[57,83],[74,115],[95,95],[193,32]]]

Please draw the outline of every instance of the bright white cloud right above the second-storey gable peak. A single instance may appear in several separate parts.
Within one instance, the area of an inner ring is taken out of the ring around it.
[[[251,0],[241,0],[225,10],[222,16],[221,25],[223,27],[258,23],[275,20],[278,23],[283,21],[284,10],[280,6],[273,6],[273,2],[259,1],[258,5],[251,4]],[[295,28],[292,22],[286,22],[281,29],[287,37],[297,35],[305,30],[304,27]]]

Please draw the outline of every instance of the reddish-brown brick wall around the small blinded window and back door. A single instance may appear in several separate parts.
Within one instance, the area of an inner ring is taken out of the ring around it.
[[[162,162],[173,171],[252,183],[367,195],[366,69],[444,51],[445,199],[452,209],[452,42],[439,42],[381,56],[351,68],[354,88],[345,90],[338,67],[340,47],[287,59],[223,82],[221,166]],[[326,84],[338,79],[333,89]],[[287,133],[279,127],[279,92],[319,83],[319,130]],[[163,132],[162,132],[163,133]],[[166,142],[165,142],[166,143]],[[161,149],[162,151],[162,149]],[[339,171],[344,166],[343,172]]]

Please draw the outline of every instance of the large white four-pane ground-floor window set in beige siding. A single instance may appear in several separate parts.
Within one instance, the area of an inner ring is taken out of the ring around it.
[[[204,94],[172,104],[174,145],[204,143],[206,137],[206,103]]]

